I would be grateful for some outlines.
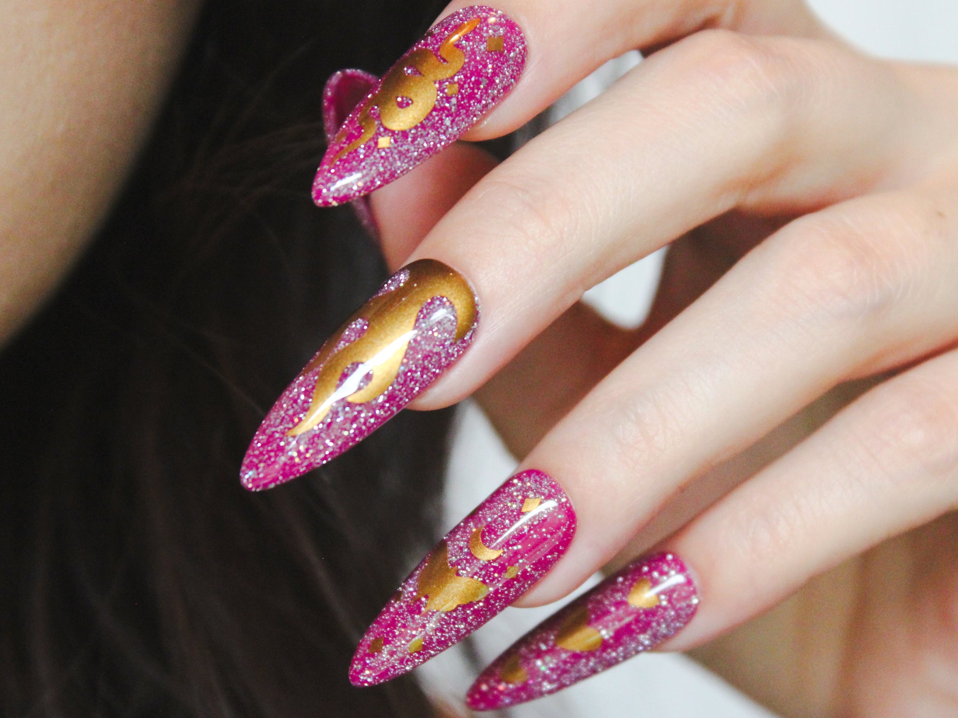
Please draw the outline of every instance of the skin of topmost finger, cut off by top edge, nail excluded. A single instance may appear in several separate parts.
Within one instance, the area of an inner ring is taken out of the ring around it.
[[[452,3],[439,19],[468,5]],[[529,59],[513,93],[470,131],[471,140],[497,137],[527,123],[613,57],[660,47],[703,28],[827,36],[800,0],[506,0],[496,7],[522,28]]]

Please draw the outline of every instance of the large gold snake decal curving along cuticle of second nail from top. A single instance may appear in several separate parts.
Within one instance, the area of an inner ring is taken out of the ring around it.
[[[332,335],[304,371],[322,367],[316,377],[312,403],[307,414],[286,432],[297,437],[315,428],[339,399],[355,404],[372,401],[396,379],[406,347],[416,336],[416,318],[422,306],[434,297],[445,297],[456,310],[455,341],[460,341],[475,323],[476,303],[472,289],[462,275],[436,259],[420,259],[405,268],[408,278],[391,292],[380,294],[362,307]],[[368,326],[359,339],[343,348],[339,340],[349,325],[366,320]],[[361,364],[363,374],[373,373],[369,384],[358,388],[363,378],[359,370],[337,389],[343,371]]]

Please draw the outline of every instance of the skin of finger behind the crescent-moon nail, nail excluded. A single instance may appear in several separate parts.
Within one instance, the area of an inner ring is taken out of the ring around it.
[[[524,465],[562,478],[577,541],[522,603],[571,591],[689,482],[836,384],[954,341],[947,186],[787,225],[566,415]]]

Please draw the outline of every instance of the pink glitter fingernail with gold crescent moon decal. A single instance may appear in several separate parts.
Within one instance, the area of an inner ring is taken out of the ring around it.
[[[350,681],[389,681],[465,639],[549,572],[575,532],[558,483],[516,474],[409,575],[359,642]]]

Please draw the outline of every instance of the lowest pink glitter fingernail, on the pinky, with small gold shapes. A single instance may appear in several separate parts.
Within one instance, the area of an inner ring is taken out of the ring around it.
[[[495,710],[555,693],[672,638],[697,606],[678,556],[639,559],[515,641],[472,684],[466,703]]]

